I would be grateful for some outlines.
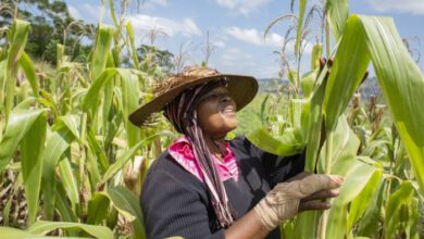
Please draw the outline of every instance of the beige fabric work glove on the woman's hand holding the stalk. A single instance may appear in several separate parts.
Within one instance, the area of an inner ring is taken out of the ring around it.
[[[329,209],[328,203],[313,200],[336,197],[342,181],[342,177],[337,175],[301,173],[277,184],[254,206],[254,211],[271,231],[299,211]]]

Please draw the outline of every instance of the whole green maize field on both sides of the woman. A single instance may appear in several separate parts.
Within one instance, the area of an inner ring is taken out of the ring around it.
[[[329,211],[284,222],[283,237],[422,238],[421,70],[391,18],[349,13],[348,0],[319,5],[321,40],[302,70],[311,7],[291,3],[298,12],[265,30],[282,21],[294,25],[287,34],[295,61],[285,58],[286,46],[280,52],[280,77],[288,83],[262,100],[262,124],[247,137],[279,155],[305,150],[305,171],[339,174],[345,184]],[[114,25],[100,16],[86,62],[71,62],[58,43],[51,71],[24,50],[29,22],[15,17],[0,29],[7,33],[0,49],[1,238],[146,238],[140,188],[149,165],[178,135],[159,115],[154,127],[128,122],[164,74],[154,52],[139,61],[132,23],[110,9]],[[359,90],[370,65],[383,99]]]

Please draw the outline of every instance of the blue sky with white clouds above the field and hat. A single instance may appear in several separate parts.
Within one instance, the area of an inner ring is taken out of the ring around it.
[[[114,1],[115,4],[121,2]],[[65,2],[74,18],[99,21],[101,0]],[[209,32],[214,49],[210,67],[257,78],[278,76],[278,55],[273,52],[280,50],[288,25],[276,24],[266,38],[263,33],[271,21],[290,13],[289,0],[139,0],[139,8],[136,2],[133,0],[126,15],[133,24],[137,46],[149,43],[148,33],[154,28],[161,33],[154,42],[160,49],[174,54],[185,52],[187,64],[199,64],[205,58]],[[308,7],[314,3],[308,2]],[[105,12],[102,22],[112,25],[109,11]],[[409,39],[423,54],[419,62],[423,71],[424,0],[351,0],[349,12],[394,17],[401,37]],[[304,71],[310,65],[312,36],[301,63]],[[288,53],[292,53],[292,45],[288,45]]]

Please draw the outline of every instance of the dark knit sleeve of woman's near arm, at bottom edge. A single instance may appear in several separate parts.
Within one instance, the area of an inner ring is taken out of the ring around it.
[[[224,229],[211,232],[207,206],[195,190],[165,172],[149,176],[140,197],[147,238],[225,238]]]

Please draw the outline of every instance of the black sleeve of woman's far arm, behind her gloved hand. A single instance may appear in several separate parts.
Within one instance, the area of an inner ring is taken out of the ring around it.
[[[249,143],[251,142],[249,141]],[[251,153],[260,159],[265,174],[269,176],[271,188],[304,171],[305,150],[292,156],[278,156],[259,149],[253,143],[251,144]]]

